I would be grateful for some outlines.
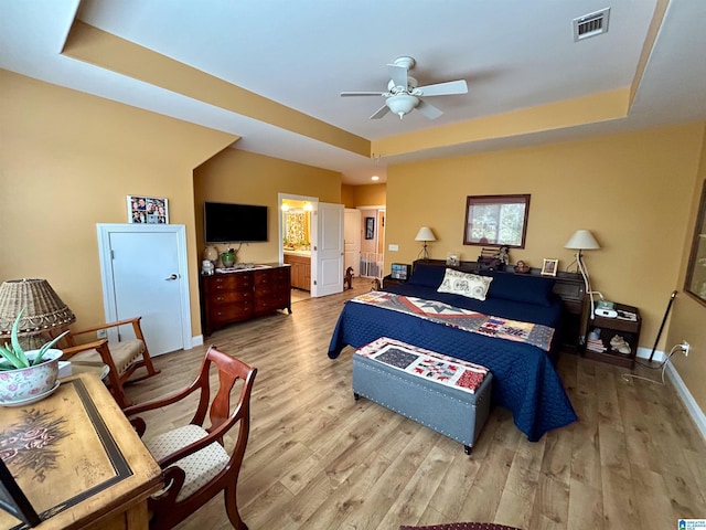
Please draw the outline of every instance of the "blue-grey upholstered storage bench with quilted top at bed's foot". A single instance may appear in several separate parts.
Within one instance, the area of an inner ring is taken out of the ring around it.
[[[461,442],[467,455],[488,420],[484,367],[382,337],[353,354],[353,395]]]

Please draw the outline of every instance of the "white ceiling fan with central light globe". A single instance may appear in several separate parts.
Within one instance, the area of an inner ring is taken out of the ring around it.
[[[388,64],[391,80],[387,83],[387,92],[342,92],[341,97],[349,96],[384,96],[385,105],[377,109],[370,119],[379,119],[389,110],[402,119],[406,114],[415,108],[429,119],[435,119],[443,113],[425,102],[421,97],[428,96],[450,96],[456,94],[468,94],[468,85],[464,80],[448,81],[427,86],[417,86],[417,80],[409,75],[409,71],[415,67],[413,57],[397,57],[393,64]]]

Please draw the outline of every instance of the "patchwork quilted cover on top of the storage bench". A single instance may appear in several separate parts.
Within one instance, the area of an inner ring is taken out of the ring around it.
[[[381,337],[355,352],[403,372],[443,384],[452,389],[475,393],[488,368],[472,362],[425,350],[399,340]]]

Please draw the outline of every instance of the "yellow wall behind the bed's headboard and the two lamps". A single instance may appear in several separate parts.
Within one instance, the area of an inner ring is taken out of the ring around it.
[[[704,141],[704,124],[665,127],[580,141],[394,166],[387,171],[386,244],[392,262],[411,263],[420,226],[430,226],[434,258],[460,251],[474,259],[479,246],[464,246],[467,195],[530,193],[526,247],[511,261],[542,266],[559,259],[578,229],[601,245],[585,253],[593,288],[607,299],[640,308],[642,347],[652,348],[664,307],[680,284],[680,265],[689,227]],[[686,208],[684,208],[686,206]],[[664,337],[662,338],[664,341]]]

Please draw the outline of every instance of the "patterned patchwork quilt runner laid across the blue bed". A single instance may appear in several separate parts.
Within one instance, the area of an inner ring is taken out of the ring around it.
[[[383,307],[393,311],[415,315],[419,318],[443,324],[454,328],[496,337],[515,342],[525,342],[544,351],[549,351],[554,329],[541,324],[521,322],[501,317],[453,307],[442,301],[427,300],[414,296],[393,293],[371,292],[353,298],[351,301]]]

